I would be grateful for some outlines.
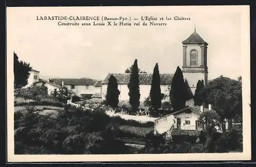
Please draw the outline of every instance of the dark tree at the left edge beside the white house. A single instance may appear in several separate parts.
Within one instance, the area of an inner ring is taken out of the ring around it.
[[[13,71],[14,71],[14,88],[21,88],[28,84],[29,71],[31,71],[32,67],[30,67],[29,63],[23,62],[22,60],[18,60],[18,56],[13,52]]]

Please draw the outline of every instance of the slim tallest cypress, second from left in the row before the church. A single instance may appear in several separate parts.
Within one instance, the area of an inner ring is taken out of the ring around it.
[[[139,87],[139,70],[137,59],[135,59],[128,83],[129,103],[132,106],[132,112],[136,112],[140,105],[140,87]]]

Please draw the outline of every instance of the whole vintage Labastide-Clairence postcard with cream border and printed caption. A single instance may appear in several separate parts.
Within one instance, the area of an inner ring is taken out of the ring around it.
[[[250,160],[249,11],[8,7],[8,162]]]

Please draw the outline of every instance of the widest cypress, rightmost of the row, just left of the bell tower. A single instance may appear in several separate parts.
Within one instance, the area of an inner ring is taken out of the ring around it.
[[[186,101],[191,99],[191,94],[188,91],[188,84],[184,81],[182,71],[178,66],[174,74],[172,85],[170,87],[170,102],[174,111],[185,108]]]

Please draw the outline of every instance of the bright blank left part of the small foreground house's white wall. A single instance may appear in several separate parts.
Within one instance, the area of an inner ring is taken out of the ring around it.
[[[174,115],[168,115],[155,121],[154,134],[163,134],[169,131],[176,124]]]

